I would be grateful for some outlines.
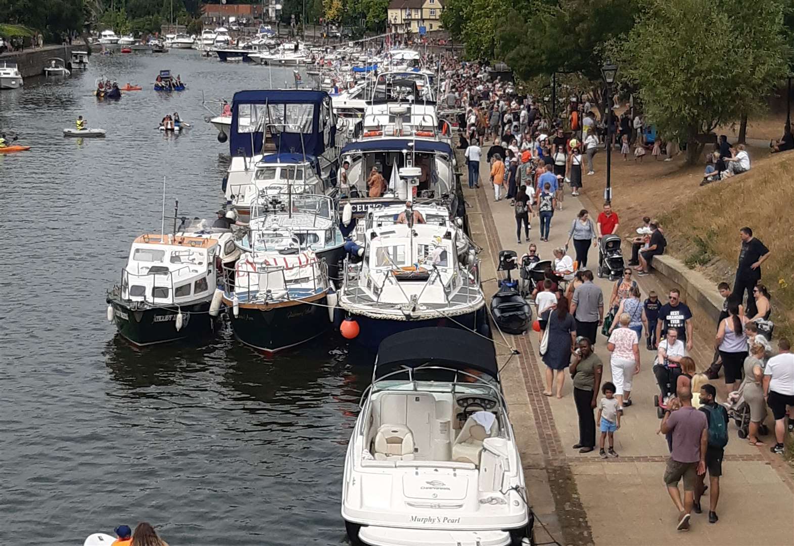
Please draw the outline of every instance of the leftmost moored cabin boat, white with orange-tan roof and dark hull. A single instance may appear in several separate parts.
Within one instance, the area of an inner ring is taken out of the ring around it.
[[[139,346],[198,339],[214,329],[214,287],[239,255],[231,230],[206,221],[183,223],[175,234],[141,235],[121,269],[121,284],[107,294],[108,320]]]

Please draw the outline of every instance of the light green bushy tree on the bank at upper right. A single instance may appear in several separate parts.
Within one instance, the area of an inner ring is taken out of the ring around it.
[[[785,1],[648,0],[627,38],[611,45],[646,118],[662,137],[687,143],[690,165],[702,134],[759,110],[786,72]]]

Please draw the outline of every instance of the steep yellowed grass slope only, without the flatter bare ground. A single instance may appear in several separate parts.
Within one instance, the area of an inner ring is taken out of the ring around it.
[[[750,172],[711,184],[664,221],[670,250],[710,277],[735,268],[738,228],[750,226],[772,255],[763,266],[763,282],[772,294],[775,337],[794,335],[794,153],[765,158]],[[716,279],[715,279],[716,280]],[[721,279],[722,280],[722,279]],[[724,278],[732,282],[732,277]]]

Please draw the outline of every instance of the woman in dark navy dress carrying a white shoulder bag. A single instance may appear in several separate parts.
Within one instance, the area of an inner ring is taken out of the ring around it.
[[[548,345],[543,355],[546,365],[546,385],[544,396],[552,396],[552,391],[557,386],[557,398],[562,398],[562,385],[565,383],[565,368],[571,362],[571,353],[576,345],[576,321],[568,312],[568,300],[560,298],[557,308],[549,310],[549,319],[546,321],[549,329]],[[595,427],[595,425],[593,425]],[[595,428],[593,428],[593,445],[595,445]]]

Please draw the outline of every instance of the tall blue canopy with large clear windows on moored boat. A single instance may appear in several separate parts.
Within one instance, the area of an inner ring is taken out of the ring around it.
[[[280,154],[320,156],[336,141],[336,118],[326,91],[237,91],[232,101],[229,153],[261,153],[265,132]],[[303,161],[303,159],[302,159]]]

